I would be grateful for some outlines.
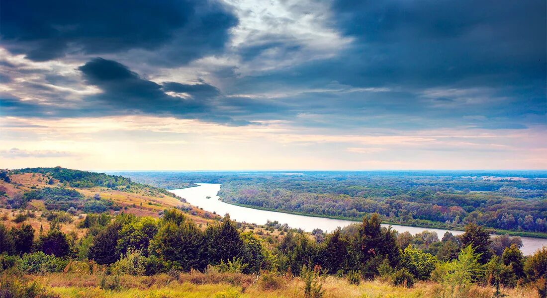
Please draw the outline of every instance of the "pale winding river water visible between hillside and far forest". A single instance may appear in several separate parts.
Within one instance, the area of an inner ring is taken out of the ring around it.
[[[173,189],[170,190],[173,194],[181,196],[186,199],[186,201],[194,206],[203,208],[203,210],[209,212],[216,212],[217,214],[224,215],[226,213],[230,214],[231,219],[235,219],[240,222],[245,222],[249,224],[266,224],[266,220],[275,221],[277,220],[280,224],[288,224],[290,227],[300,228],[304,231],[311,232],[313,229],[319,228],[323,231],[332,231],[336,227],[344,227],[350,224],[357,223],[356,221],[351,220],[342,220],[342,219],[331,219],[331,218],[322,218],[322,217],[310,217],[305,215],[297,214],[288,214],[275,211],[265,211],[258,210],[248,207],[241,207],[232,204],[225,203],[218,200],[217,193],[220,190],[220,184],[213,183],[197,183],[200,186],[195,186],[191,188],[184,189]],[[211,198],[207,198],[210,196]],[[389,225],[383,225],[389,226]],[[401,226],[401,225],[391,225],[394,230],[397,230],[399,233],[410,232],[412,235],[420,233],[422,231],[432,231],[436,232],[440,238],[443,238],[443,235],[446,231],[451,232],[453,235],[460,235],[462,231],[451,231],[443,229],[432,229],[428,227],[414,227],[414,226]],[[494,236],[495,237],[495,236]],[[544,238],[533,238],[533,237],[521,237],[522,239],[522,253],[525,255],[530,255],[536,252],[542,246],[547,246],[547,239]]]

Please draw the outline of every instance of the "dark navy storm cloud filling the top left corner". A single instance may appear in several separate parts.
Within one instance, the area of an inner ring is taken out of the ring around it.
[[[185,63],[222,50],[236,24],[225,5],[207,0],[21,0],[0,10],[3,46],[34,61],[142,49]]]

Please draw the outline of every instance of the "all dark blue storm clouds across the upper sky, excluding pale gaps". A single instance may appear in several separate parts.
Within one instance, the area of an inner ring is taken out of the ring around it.
[[[56,105],[13,97],[6,107],[2,102],[2,114],[153,114],[228,125],[292,120],[295,125],[339,128],[544,125],[546,5],[543,0],[336,0],[327,25],[353,41],[333,55],[276,67],[292,57],[305,57],[298,36],[251,30],[245,42],[226,50],[237,20],[217,2],[139,2],[125,7],[118,2],[2,1],[2,41],[9,50],[34,60],[74,52],[104,52],[113,59],[94,59],[79,68],[85,83],[102,93],[84,96],[78,107],[59,108],[63,95],[55,97],[56,91],[34,81],[28,88]],[[291,9],[301,10],[292,15],[307,14],[298,5]],[[263,21],[288,26],[280,19]],[[252,75],[242,75],[239,65],[207,69],[222,90],[202,80],[155,83],[114,61],[131,61],[139,72],[138,64],[148,63],[142,73],[154,73],[153,63],[160,68],[180,66],[223,50],[237,55],[241,69],[251,69]],[[261,59],[274,67],[253,68],[264,62]],[[51,73],[45,80],[75,84],[74,78]]]

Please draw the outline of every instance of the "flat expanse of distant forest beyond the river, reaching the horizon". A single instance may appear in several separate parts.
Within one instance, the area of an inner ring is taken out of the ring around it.
[[[545,171],[129,172],[138,182],[222,183],[228,203],[359,220],[461,229],[547,232]]]

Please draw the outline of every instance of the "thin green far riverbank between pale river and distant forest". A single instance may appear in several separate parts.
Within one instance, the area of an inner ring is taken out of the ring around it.
[[[260,206],[252,206],[247,204],[240,204],[235,202],[226,202],[224,200],[219,199],[220,201],[231,204],[234,206],[239,207],[246,207],[246,208],[252,208],[257,210],[263,210],[263,211],[271,211],[271,212],[279,212],[279,213],[286,213],[286,214],[294,214],[294,215],[302,215],[306,217],[319,217],[319,218],[330,218],[330,219],[340,219],[340,220],[349,220],[349,221],[355,221],[356,223],[360,222],[360,219],[357,218],[350,218],[350,217],[341,217],[341,216],[333,216],[333,215],[325,215],[325,214],[309,214],[304,212],[298,212],[298,211],[286,211],[286,210],[277,210],[274,208],[265,208]],[[386,221],[383,220],[382,224],[387,225],[399,225],[399,226],[409,226],[409,227],[425,227],[429,229],[443,229],[443,230],[455,230],[455,231],[463,231],[463,226],[449,226],[449,225],[442,225],[438,223],[433,223],[431,225],[427,224],[406,224],[406,223],[395,223],[393,221]],[[508,231],[508,230],[498,230],[498,229],[491,229],[486,227],[485,230],[492,234],[496,235],[511,235],[511,236],[519,236],[519,237],[532,237],[532,238],[542,238],[547,239],[547,233],[539,233],[539,232],[519,232],[519,231]]]

